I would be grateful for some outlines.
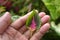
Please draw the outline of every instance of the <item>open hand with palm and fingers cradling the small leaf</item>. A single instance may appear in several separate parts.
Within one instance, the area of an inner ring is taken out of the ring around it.
[[[30,31],[26,29],[24,25],[29,15],[30,12],[13,23],[11,23],[11,15],[9,12],[6,12],[0,17],[0,40],[41,40],[43,35],[50,28],[50,16],[46,15],[44,12],[39,13],[42,26],[38,32],[30,36]]]

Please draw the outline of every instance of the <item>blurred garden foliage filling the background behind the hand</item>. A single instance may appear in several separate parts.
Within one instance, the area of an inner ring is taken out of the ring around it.
[[[51,28],[42,40],[60,39],[60,0],[0,0],[0,15],[9,11],[13,21],[37,9],[51,16]]]

